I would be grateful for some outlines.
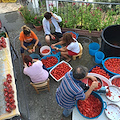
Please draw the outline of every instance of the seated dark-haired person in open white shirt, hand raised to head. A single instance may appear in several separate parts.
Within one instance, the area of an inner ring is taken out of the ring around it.
[[[46,12],[44,14],[43,29],[45,32],[45,40],[49,46],[50,46],[50,40],[55,40],[55,39],[58,40],[59,38],[62,37],[61,28],[58,24],[58,22],[61,21],[62,18],[52,12]],[[52,33],[51,25],[53,25],[53,27],[55,28],[55,31],[53,31],[54,33]]]

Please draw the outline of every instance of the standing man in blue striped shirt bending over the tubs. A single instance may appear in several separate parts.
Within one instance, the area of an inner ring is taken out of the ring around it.
[[[56,101],[63,107],[63,116],[68,117],[76,104],[77,100],[85,100],[89,97],[94,88],[98,87],[97,79],[94,76],[88,76],[88,69],[84,66],[78,66],[73,71],[67,72],[60,86],[56,90]],[[84,93],[82,80],[90,78],[92,85]]]

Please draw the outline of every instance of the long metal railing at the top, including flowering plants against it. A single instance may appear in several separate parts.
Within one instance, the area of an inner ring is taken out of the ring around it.
[[[120,3],[47,0],[47,10],[60,15],[66,28],[100,31],[120,24]]]

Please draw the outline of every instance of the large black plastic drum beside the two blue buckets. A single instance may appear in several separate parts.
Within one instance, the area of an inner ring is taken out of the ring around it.
[[[120,25],[106,27],[101,38],[101,51],[105,57],[120,57]]]

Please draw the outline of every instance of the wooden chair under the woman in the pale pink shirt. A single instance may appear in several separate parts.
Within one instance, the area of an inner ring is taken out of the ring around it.
[[[39,94],[40,91],[44,91],[44,90],[50,91],[49,81],[50,79],[48,78],[45,82],[39,82],[39,83],[30,82],[30,84],[34,87],[37,94]]]

